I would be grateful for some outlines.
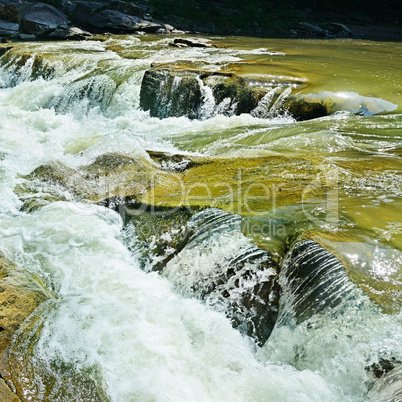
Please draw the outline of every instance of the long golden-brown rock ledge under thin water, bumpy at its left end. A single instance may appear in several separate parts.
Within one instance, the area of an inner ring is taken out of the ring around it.
[[[57,199],[102,205],[126,199],[173,209],[217,207],[254,216],[300,202],[306,183],[320,172],[319,163],[280,155],[247,159],[155,155],[152,161],[149,156],[105,154],[78,170],[59,163],[40,166],[14,191],[23,208],[29,209]],[[317,189],[315,196],[326,197],[325,191]]]

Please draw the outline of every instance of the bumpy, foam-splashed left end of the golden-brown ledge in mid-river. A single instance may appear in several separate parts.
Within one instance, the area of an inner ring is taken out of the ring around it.
[[[22,209],[33,211],[54,201],[90,201],[111,206],[116,200],[136,200],[153,185],[169,186],[174,173],[158,169],[144,157],[105,154],[78,170],[61,163],[36,168],[14,191]],[[40,188],[40,191],[38,190]]]

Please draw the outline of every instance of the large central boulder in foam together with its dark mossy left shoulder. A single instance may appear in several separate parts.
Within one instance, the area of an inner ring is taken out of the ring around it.
[[[239,215],[220,209],[120,208],[157,270],[181,294],[224,313],[259,345],[268,339],[279,303],[278,269],[270,254],[242,234]]]

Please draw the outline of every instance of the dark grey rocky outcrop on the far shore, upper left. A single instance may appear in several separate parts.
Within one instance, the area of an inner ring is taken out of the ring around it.
[[[0,37],[17,40],[72,39],[96,33],[159,33],[175,29],[163,22],[154,22],[144,8],[125,1],[53,1],[53,5],[26,1],[0,2]],[[72,26],[75,24],[76,27]],[[72,32],[71,30],[80,30]],[[30,36],[26,36],[30,35]],[[33,36],[34,35],[34,36]]]

